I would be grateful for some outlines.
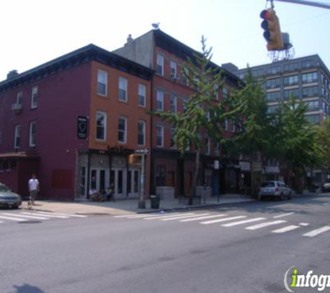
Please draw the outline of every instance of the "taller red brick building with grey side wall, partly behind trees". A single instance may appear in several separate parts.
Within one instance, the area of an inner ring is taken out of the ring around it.
[[[184,110],[192,88],[181,75],[182,65],[188,58],[193,59],[197,51],[156,29],[135,39],[129,35],[124,47],[114,53],[154,69],[151,93],[153,110]],[[224,71],[225,85],[219,92],[219,99],[223,99],[224,95],[230,94],[231,88],[238,87],[240,80],[221,67],[213,66]],[[230,135],[231,128],[228,122],[227,135]],[[201,182],[198,184],[205,185],[208,194],[238,192],[238,183],[242,178],[240,162],[234,158],[224,158],[220,144],[211,142],[209,137],[204,136],[204,141],[206,151],[201,156]],[[220,161],[220,169],[215,169],[215,160]],[[151,117],[151,193],[165,196],[189,195],[194,169],[193,153],[187,151],[181,157],[174,148],[174,128],[158,117]],[[249,168],[245,171],[249,173]],[[248,176],[245,176],[245,180],[249,180]]]

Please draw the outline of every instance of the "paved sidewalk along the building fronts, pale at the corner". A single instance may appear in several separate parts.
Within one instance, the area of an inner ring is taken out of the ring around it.
[[[249,201],[255,201],[249,196],[242,196],[240,194],[224,194],[219,197],[217,196],[201,198],[201,204],[194,203],[188,205],[179,202],[179,199],[160,199],[159,209],[151,208],[150,199],[146,199],[146,208],[138,208],[138,199],[119,199],[117,201],[105,201],[105,202],[94,202],[94,201],[35,201],[33,210],[42,210],[47,212],[59,212],[65,214],[84,214],[84,215],[126,215],[130,213],[139,212],[160,212],[170,210],[185,210],[185,209],[197,209],[197,208],[210,208],[215,206],[222,206],[231,203],[245,203]],[[27,203],[24,201],[21,206],[22,209],[27,209]]]

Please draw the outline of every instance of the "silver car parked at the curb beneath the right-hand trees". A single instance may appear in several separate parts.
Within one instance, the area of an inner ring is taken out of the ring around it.
[[[277,199],[291,199],[292,190],[283,181],[267,181],[261,184],[259,199],[274,197]]]

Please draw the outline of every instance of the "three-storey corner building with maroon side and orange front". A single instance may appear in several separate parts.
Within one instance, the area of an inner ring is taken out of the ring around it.
[[[35,173],[50,199],[112,184],[118,197],[138,195],[140,165],[128,156],[150,147],[152,75],[93,44],[10,72],[0,83],[0,182],[26,196]]]

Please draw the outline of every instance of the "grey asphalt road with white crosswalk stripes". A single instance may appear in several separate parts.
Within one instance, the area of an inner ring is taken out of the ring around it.
[[[22,212],[0,210],[1,293],[287,292],[292,266],[330,274],[330,195],[138,217]]]

